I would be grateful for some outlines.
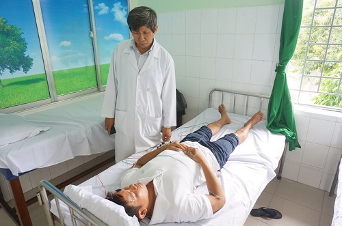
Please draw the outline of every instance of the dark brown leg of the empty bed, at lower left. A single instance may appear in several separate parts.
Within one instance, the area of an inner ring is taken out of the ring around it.
[[[31,218],[29,216],[29,210],[27,209],[27,204],[23,194],[23,188],[21,188],[19,177],[10,180],[10,185],[12,188],[14,204],[16,207],[16,214],[18,214],[21,225],[32,226]]]

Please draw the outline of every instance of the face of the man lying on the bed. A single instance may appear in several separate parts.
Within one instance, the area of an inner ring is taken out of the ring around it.
[[[148,206],[148,190],[146,185],[142,183],[131,184],[121,188],[114,195],[122,195],[124,200],[129,203],[129,206],[142,206],[146,208]]]

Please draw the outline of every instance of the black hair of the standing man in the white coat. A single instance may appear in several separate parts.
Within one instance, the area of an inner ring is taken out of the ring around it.
[[[139,6],[129,12],[127,24],[130,31],[137,31],[140,27],[146,26],[154,32],[157,26],[157,13],[152,8]]]

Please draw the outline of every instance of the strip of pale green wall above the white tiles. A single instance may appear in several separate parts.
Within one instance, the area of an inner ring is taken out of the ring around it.
[[[285,0],[131,0],[131,9],[146,5],[157,13],[187,10],[238,8],[246,6],[279,5]]]

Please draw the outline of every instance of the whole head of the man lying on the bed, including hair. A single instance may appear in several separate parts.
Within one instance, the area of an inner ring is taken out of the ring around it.
[[[111,195],[111,201],[123,206],[129,216],[136,216],[140,221],[146,216],[148,208],[148,190],[145,184],[131,184],[116,190]]]

